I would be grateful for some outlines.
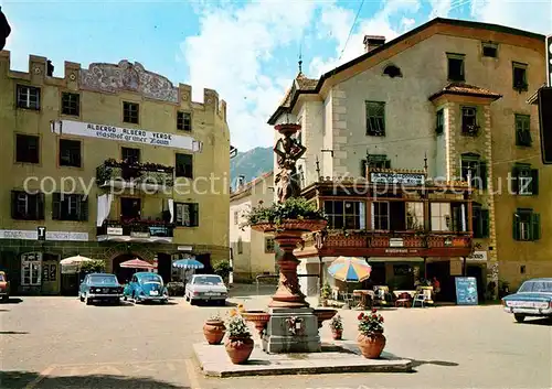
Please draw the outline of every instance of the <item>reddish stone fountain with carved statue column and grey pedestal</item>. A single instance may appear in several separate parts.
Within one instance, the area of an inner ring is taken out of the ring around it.
[[[300,196],[299,177],[296,162],[306,151],[306,148],[296,142],[293,136],[300,130],[299,125],[284,123],[275,126],[283,138],[274,147],[277,155],[279,172],[275,176],[278,203]],[[318,329],[322,322],[330,320],[336,310],[316,310],[305,300],[299,280],[297,266],[299,260],[294,249],[301,242],[302,235],[323,229],[327,221],[323,219],[287,219],[277,226],[270,223],[254,224],[251,228],[274,235],[283,253],[277,263],[279,266],[278,289],[272,296],[267,312],[245,311],[242,316],[253,322],[263,342],[266,353],[317,353],[321,350]]]

